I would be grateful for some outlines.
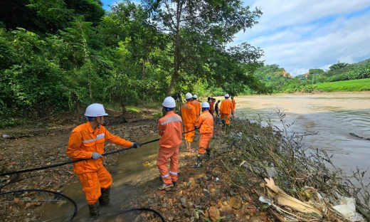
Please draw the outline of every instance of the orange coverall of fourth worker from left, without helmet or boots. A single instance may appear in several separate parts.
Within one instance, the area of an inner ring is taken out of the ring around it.
[[[202,112],[198,120],[201,132],[198,152],[204,154],[206,149],[211,148],[211,138],[213,135],[213,116],[208,110]]]

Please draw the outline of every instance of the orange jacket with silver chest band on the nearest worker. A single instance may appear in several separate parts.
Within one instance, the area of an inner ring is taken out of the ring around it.
[[[86,160],[74,163],[73,171],[77,174],[83,174],[100,169],[102,167],[103,158],[90,158],[93,156],[93,152],[97,152],[99,154],[104,153],[105,139],[114,144],[120,145],[121,147],[132,146],[132,142],[110,134],[110,132],[108,132],[108,130],[103,126],[100,126],[100,129],[96,128],[93,130],[90,122],[86,122],[83,125],[75,127],[70,134],[66,153],[68,157],[72,158],[72,160]]]

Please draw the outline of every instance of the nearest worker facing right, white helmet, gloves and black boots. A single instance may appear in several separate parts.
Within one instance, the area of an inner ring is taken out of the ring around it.
[[[72,160],[86,159],[73,163],[73,171],[78,174],[83,184],[90,214],[97,216],[99,215],[99,204],[106,205],[110,201],[110,185],[112,184],[112,176],[102,165],[105,140],[121,147],[138,148],[141,144],[110,134],[102,126],[104,116],[107,116],[103,105],[97,103],[89,105],[85,116],[88,122],[72,130],[66,153]]]

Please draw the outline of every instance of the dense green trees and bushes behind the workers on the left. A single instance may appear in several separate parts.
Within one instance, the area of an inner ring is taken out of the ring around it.
[[[242,1],[121,1],[105,11],[100,0],[13,0],[0,8],[3,126],[90,102],[125,112],[179,90],[270,93],[253,75],[263,51],[226,47],[262,14]]]

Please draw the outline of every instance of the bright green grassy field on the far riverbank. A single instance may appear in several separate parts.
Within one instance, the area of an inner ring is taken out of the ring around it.
[[[370,78],[361,80],[347,80],[332,83],[316,84],[318,90],[325,92],[355,92],[370,90]]]

